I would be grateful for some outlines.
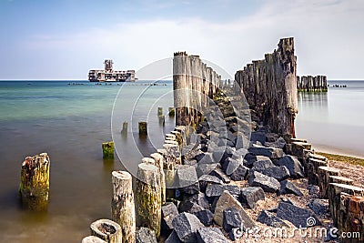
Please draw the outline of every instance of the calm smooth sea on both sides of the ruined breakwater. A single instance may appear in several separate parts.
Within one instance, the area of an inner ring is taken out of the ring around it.
[[[364,81],[329,85],[327,93],[298,94],[297,136],[317,151],[364,157]],[[172,89],[171,81],[0,81],[0,242],[80,242],[93,221],[110,218],[111,172],[136,173],[162,146],[174,127]],[[140,121],[147,137],[138,135]],[[111,140],[116,157],[103,159],[101,144]],[[22,208],[18,187],[25,157],[42,152],[51,160],[50,195],[39,213]]]

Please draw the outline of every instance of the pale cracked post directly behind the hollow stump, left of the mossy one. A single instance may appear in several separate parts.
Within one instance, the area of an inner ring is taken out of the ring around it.
[[[126,171],[113,171],[111,218],[120,225],[123,243],[136,242],[136,210],[132,177]]]

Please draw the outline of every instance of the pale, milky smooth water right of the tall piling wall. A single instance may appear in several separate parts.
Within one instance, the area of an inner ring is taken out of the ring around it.
[[[298,94],[297,136],[320,151],[364,157],[364,81],[329,81],[329,85],[328,93]]]

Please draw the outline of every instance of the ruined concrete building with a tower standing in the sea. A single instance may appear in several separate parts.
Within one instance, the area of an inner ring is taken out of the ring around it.
[[[105,69],[92,69],[88,72],[88,80],[90,82],[134,82],[136,81],[135,70],[114,70],[113,60],[106,59],[104,61]]]

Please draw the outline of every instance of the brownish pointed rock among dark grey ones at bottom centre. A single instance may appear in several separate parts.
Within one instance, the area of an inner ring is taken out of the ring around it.
[[[242,218],[244,227],[254,227],[253,220],[248,217],[247,213],[238,202],[238,200],[234,196],[232,196],[227,190],[225,190],[217,200],[214,214],[214,221],[217,223],[217,225],[223,225],[223,212],[225,208],[237,208],[240,212],[240,217]]]

